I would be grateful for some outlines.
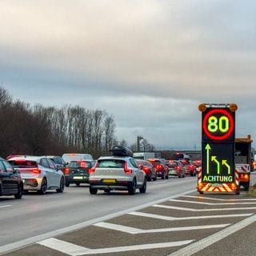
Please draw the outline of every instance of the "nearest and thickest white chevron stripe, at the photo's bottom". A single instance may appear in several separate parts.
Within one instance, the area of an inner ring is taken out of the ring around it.
[[[56,238],[48,238],[41,242],[37,242],[42,246],[46,246],[53,250],[58,250],[64,254],[68,254],[70,256],[79,256],[79,255],[87,255],[87,254],[110,254],[110,253],[118,253],[125,252],[131,250],[149,250],[149,249],[157,249],[157,248],[166,248],[173,246],[184,246],[193,242],[194,240],[184,240],[177,242],[162,242],[162,243],[150,243],[150,244],[142,244],[136,246],[119,246],[119,247],[110,247],[110,248],[99,248],[99,249],[90,249],[82,246],[74,245],[70,242],[64,242],[58,240]]]

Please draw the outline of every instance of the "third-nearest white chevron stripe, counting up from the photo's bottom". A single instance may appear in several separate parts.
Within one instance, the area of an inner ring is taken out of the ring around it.
[[[246,216],[253,215],[253,214],[225,214],[225,215],[206,215],[206,216],[190,216],[190,217],[177,218],[177,217],[170,217],[170,216],[159,215],[159,214],[146,214],[146,213],[142,213],[142,212],[138,212],[138,211],[133,211],[128,214],[141,216],[141,217],[148,217],[148,218],[158,218],[158,219],[163,219],[166,221],[202,219],[202,218],[235,218],[235,217],[246,217]]]

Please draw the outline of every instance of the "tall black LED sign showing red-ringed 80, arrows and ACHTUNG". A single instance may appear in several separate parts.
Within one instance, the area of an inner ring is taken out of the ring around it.
[[[200,104],[202,112],[202,170],[200,187],[234,183],[236,104]]]

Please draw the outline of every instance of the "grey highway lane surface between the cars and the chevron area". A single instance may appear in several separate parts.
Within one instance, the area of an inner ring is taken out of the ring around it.
[[[134,196],[126,192],[90,195],[88,186],[70,186],[63,194],[54,191],[46,195],[31,193],[25,194],[21,200],[2,197],[0,249],[26,239],[28,242],[30,238],[36,240],[37,236],[56,230],[67,231],[69,226],[74,229],[82,222],[122,214],[134,207],[195,190],[196,185],[197,178],[186,177],[148,182],[146,194],[138,192]]]

